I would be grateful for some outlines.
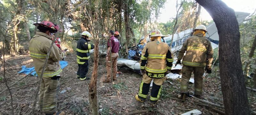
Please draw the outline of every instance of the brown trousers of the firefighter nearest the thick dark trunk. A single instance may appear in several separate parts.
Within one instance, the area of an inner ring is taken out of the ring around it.
[[[181,77],[180,93],[188,93],[188,81],[190,80],[191,73],[194,72],[195,95],[202,95],[204,67],[191,67],[191,66],[183,65],[181,72],[182,72],[182,77]]]

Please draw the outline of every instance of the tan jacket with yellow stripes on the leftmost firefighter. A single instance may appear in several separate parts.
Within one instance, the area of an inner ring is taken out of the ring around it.
[[[51,37],[43,32],[36,32],[36,35],[29,41],[30,56],[33,59],[35,70],[38,76],[41,75],[47,52],[52,44]],[[53,77],[62,71],[59,61],[64,57],[64,53],[56,46],[51,48],[50,56],[44,70],[43,77]]]

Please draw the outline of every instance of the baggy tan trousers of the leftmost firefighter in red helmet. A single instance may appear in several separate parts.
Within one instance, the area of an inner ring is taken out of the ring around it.
[[[59,80],[43,77],[39,91],[39,108],[45,114],[52,114],[57,111],[57,94],[59,90]]]

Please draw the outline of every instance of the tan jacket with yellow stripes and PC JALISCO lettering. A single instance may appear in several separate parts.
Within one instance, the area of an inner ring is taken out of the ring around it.
[[[165,72],[172,68],[173,56],[166,43],[161,42],[161,39],[155,39],[144,47],[140,61],[140,69],[146,70],[148,77],[162,79]]]

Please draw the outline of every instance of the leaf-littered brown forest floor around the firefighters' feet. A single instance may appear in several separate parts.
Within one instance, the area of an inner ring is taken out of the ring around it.
[[[117,77],[117,81],[114,81],[113,84],[114,88],[111,90],[111,83],[103,83],[106,77],[106,62],[103,60],[103,58],[100,58],[98,66],[98,105],[101,115],[121,115],[140,110],[150,110],[150,112],[140,114],[155,115],[157,114],[156,110],[158,110],[167,115],[179,115],[194,109],[202,111],[204,115],[218,114],[205,106],[191,103],[193,102],[192,98],[187,98],[187,102],[178,100],[177,95],[180,91],[180,80],[168,79],[168,81],[171,81],[174,85],[171,85],[167,81],[164,82],[160,102],[154,108],[149,106],[149,98],[144,103],[136,101],[134,95],[138,93],[142,76],[128,68],[118,68],[118,71],[123,74]],[[64,111],[66,115],[89,114],[88,85],[90,81],[80,81],[76,78],[77,62],[75,54],[70,53],[67,55],[65,61],[68,61],[68,66],[65,67],[61,73],[60,92],[63,90],[67,91],[65,93],[59,93],[58,95],[58,110]],[[33,60],[29,57],[29,54],[20,57],[6,58],[5,76],[9,85],[25,76],[23,73],[17,73],[21,70],[22,65],[26,65],[26,67],[34,66]],[[88,71],[88,76],[90,77],[92,68],[93,64],[91,63]],[[0,74],[1,76],[3,75],[3,68]],[[11,89],[16,114],[27,115],[32,110],[35,98],[34,93],[37,87],[37,77],[30,75],[18,84],[12,86],[18,87],[32,83],[35,84]],[[0,81],[0,88],[1,90],[6,88],[3,80]],[[194,84],[189,84],[189,91],[194,92]],[[202,97],[209,102],[223,105],[218,67],[213,69],[211,75],[204,78],[204,92]],[[255,97],[252,97],[252,99],[253,101],[251,101],[250,104],[252,105],[251,107],[255,109]],[[0,94],[0,108],[10,111],[10,104],[11,99],[8,91]],[[39,110],[38,105],[36,106],[36,114],[43,114]]]

